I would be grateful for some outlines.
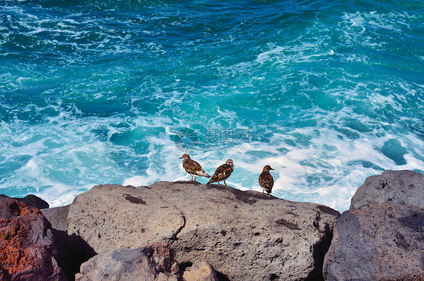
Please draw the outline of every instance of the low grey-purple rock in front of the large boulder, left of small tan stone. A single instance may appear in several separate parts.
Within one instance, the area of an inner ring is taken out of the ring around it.
[[[81,265],[75,281],[177,281],[175,251],[166,243],[98,254]]]

